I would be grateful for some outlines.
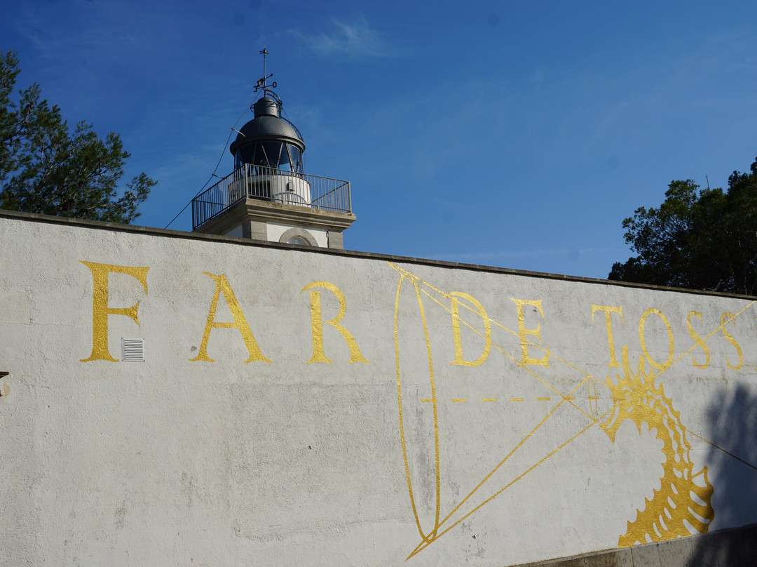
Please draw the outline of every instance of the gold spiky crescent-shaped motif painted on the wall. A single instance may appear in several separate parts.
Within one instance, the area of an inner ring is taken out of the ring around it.
[[[641,433],[646,421],[650,431],[654,429],[662,440],[662,463],[664,474],[660,478],[660,490],[655,490],[652,500],[645,499],[643,510],[637,510],[634,522],[628,522],[628,530],[618,538],[618,547],[645,544],[687,536],[693,531],[705,533],[715,515],[710,499],[712,484],[707,480],[707,467],[696,474],[689,458],[690,443],[686,440],[686,428],[681,424],[681,412],[673,409],[671,399],[665,396],[662,384],[655,384],[653,371],[646,372],[643,356],[639,357],[637,374],[628,364],[628,347],[623,348],[623,374],[618,374],[618,384],[607,377],[607,386],[612,391],[612,414],[600,427],[615,443],[615,434],[620,425],[630,419]]]

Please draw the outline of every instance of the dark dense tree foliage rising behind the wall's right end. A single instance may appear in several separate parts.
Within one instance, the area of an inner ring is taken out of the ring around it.
[[[752,295],[757,287],[757,158],[727,190],[673,181],[659,208],[623,221],[637,256],[615,262],[611,280]]]

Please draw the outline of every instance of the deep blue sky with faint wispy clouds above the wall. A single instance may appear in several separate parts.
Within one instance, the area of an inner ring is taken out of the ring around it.
[[[151,227],[231,172],[263,44],[347,249],[606,277],[635,208],[757,155],[755,2],[4,0],[0,38],[160,182]]]

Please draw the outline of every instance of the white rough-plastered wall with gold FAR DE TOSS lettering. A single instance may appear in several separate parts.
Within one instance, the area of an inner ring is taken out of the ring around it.
[[[514,565],[757,522],[750,299],[18,218],[0,243],[0,565]],[[121,337],[146,361],[103,360]]]

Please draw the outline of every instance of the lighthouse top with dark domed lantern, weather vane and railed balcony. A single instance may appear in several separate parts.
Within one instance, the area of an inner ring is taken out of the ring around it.
[[[319,248],[344,248],[342,233],[355,221],[349,181],[306,174],[305,141],[282,116],[282,100],[266,76],[251,121],[235,130],[231,174],[192,199],[192,230],[226,237]]]

